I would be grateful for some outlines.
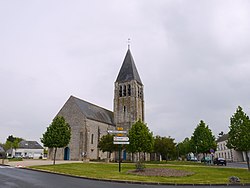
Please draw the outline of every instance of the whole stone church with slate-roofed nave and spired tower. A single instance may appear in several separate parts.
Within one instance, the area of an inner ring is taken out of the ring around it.
[[[144,121],[143,84],[135,66],[130,49],[114,84],[113,112],[70,96],[57,116],[63,116],[71,127],[71,140],[67,147],[58,148],[56,159],[83,160],[105,159],[97,147],[107,130],[123,127],[128,130],[134,122]],[[49,149],[50,159],[53,149]]]

